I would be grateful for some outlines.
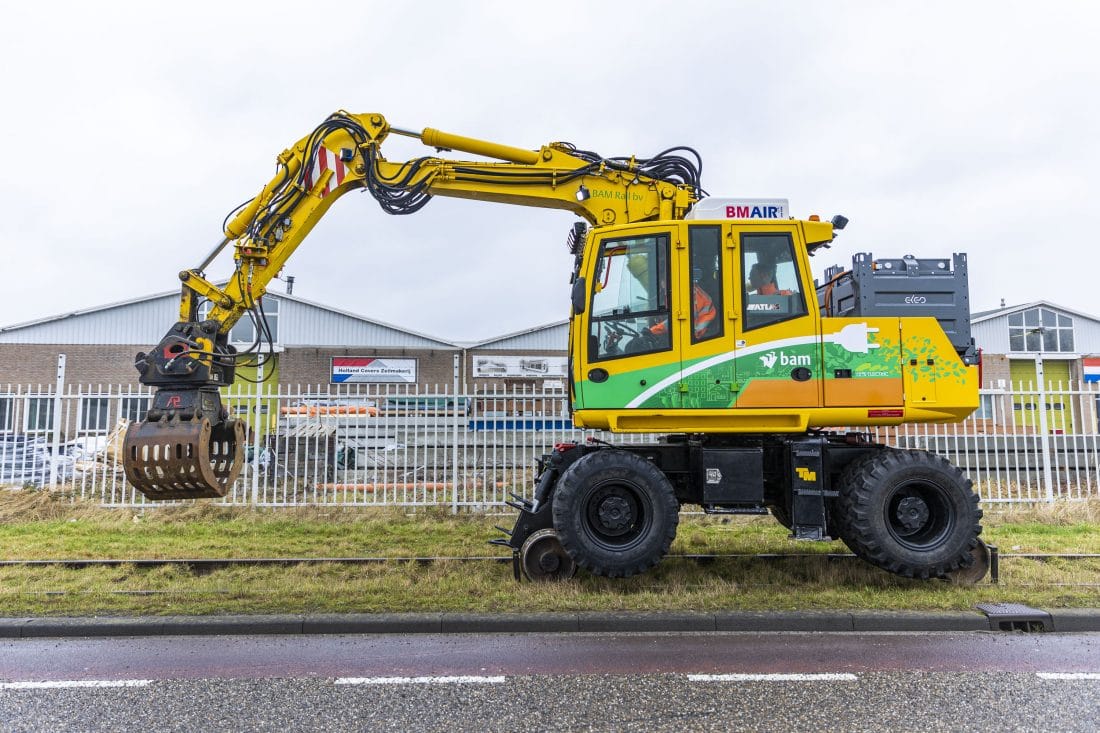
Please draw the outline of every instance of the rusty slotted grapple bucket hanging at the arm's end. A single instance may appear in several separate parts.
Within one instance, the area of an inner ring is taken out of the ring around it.
[[[146,499],[217,499],[244,464],[244,424],[206,417],[134,423],[127,429],[127,480]]]

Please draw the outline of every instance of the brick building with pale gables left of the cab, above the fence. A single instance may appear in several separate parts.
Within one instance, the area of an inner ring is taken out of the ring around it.
[[[152,348],[178,318],[178,292],[135,298],[0,327],[0,384],[52,384],[57,355],[67,380],[136,384],[134,354]],[[550,324],[480,342],[455,342],[385,324],[294,295],[267,295],[264,310],[273,346],[265,376],[284,385],[395,383],[452,386],[556,387],[564,380],[568,325]],[[238,348],[255,330],[242,319],[231,333]],[[383,369],[382,366],[385,366]],[[255,369],[242,369],[254,378]]]

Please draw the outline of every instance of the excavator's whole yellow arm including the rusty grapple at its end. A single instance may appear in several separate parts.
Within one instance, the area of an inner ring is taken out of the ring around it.
[[[494,162],[389,162],[382,144],[392,134]],[[526,150],[430,128],[403,130],[373,112],[336,112],[278,155],[275,176],[227,221],[218,245],[179,274],[179,322],[138,355],[142,383],[158,390],[146,419],[127,433],[128,479],[151,499],[224,495],[243,466],[244,444],[244,426],[229,417],[218,394],[233,381],[230,329],[250,311],[262,319],[258,303],[268,283],[343,194],[366,188],[391,214],[411,214],[438,195],[566,209],[596,226],[681,219],[700,196],[698,172],[693,180],[675,164],[682,158],[669,160],[647,167],[568,143]],[[234,273],[219,286],[205,271],[230,243]],[[204,299],[211,308],[199,321]]]

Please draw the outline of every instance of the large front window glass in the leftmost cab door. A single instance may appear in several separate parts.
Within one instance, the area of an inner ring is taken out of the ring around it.
[[[671,349],[668,234],[604,240],[590,313],[592,361]]]

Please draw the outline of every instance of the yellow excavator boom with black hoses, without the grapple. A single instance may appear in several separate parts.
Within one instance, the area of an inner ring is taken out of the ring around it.
[[[332,129],[334,127],[334,129]],[[326,134],[327,131],[327,134]],[[505,162],[421,157],[395,163],[381,154],[389,134],[417,138],[440,151],[460,151]],[[235,241],[238,277],[224,293],[204,282],[204,267],[182,273],[185,291],[219,296],[209,317],[228,332],[264,294],[336,199],[367,188],[389,214],[413,214],[431,196],[572,211],[592,225],[681,219],[698,199],[698,168],[678,157],[659,160],[668,178],[635,158],[598,158],[568,143],[524,150],[426,128],[391,128],[381,114],[338,112],[278,156],[271,182],[227,223],[221,247]],[[180,318],[194,318],[184,303]]]

